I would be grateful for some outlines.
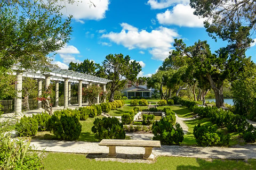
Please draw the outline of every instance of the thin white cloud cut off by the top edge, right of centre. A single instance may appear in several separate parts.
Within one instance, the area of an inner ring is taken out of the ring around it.
[[[148,5],[150,5],[150,7],[152,9],[163,9],[166,7],[170,7],[174,4],[188,4],[189,0],[160,0],[160,2],[158,2],[157,0],[149,0],[147,2]]]

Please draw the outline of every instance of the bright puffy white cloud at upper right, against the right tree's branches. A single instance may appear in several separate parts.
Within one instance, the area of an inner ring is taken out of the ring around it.
[[[178,4],[173,10],[166,10],[164,13],[157,14],[156,18],[159,23],[166,25],[179,25],[180,27],[204,27],[203,21],[193,14],[194,9],[189,5]]]

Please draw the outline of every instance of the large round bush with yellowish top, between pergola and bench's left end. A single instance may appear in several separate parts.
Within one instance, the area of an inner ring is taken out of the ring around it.
[[[82,131],[79,116],[67,110],[54,112],[49,119],[49,130],[61,140],[77,140]]]

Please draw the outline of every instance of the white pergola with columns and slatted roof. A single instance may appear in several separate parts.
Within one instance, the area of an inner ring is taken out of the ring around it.
[[[15,70],[15,69],[14,69]],[[55,94],[55,107],[59,106],[59,82],[64,82],[64,108],[70,105],[71,99],[71,82],[78,83],[78,106],[82,106],[82,84],[87,84],[86,88],[91,84],[102,84],[103,91],[106,91],[106,84],[111,80],[95,77],[93,75],[78,73],[70,70],[60,69],[58,67],[47,67],[47,72],[31,72],[25,70],[15,70],[14,75],[17,75],[17,82],[15,89],[17,90],[17,97],[15,98],[15,112],[21,113],[22,111],[22,77],[29,77],[37,79],[38,81],[38,96],[42,95],[42,80],[45,79],[45,88],[50,85],[50,81],[55,81],[56,94]],[[97,97],[97,103],[99,103],[99,95]],[[42,101],[38,101],[38,108],[42,107]]]

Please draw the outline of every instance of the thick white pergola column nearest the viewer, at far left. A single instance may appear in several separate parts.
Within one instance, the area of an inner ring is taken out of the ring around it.
[[[15,84],[15,89],[17,91],[15,97],[15,113],[21,113],[22,111],[22,73],[17,72],[17,81]]]

